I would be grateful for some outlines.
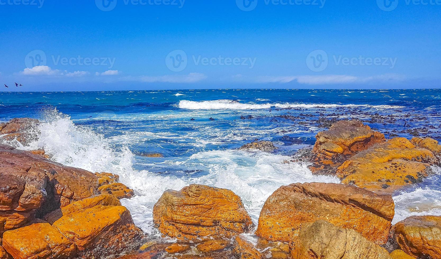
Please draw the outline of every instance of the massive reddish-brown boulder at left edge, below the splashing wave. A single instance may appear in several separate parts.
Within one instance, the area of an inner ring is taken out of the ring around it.
[[[0,234],[95,194],[92,173],[0,145]]]

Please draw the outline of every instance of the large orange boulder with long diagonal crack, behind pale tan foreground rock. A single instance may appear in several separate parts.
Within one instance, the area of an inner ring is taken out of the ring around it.
[[[292,241],[302,226],[324,219],[354,229],[366,239],[384,244],[395,205],[392,196],[350,185],[291,184],[277,189],[263,205],[256,235],[271,241]]]

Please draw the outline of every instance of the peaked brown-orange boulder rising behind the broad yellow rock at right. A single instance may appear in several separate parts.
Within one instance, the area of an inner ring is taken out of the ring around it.
[[[348,157],[385,141],[385,136],[351,120],[334,123],[329,130],[319,132],[316,139],[310,169],[317,174],[333,174]]]

